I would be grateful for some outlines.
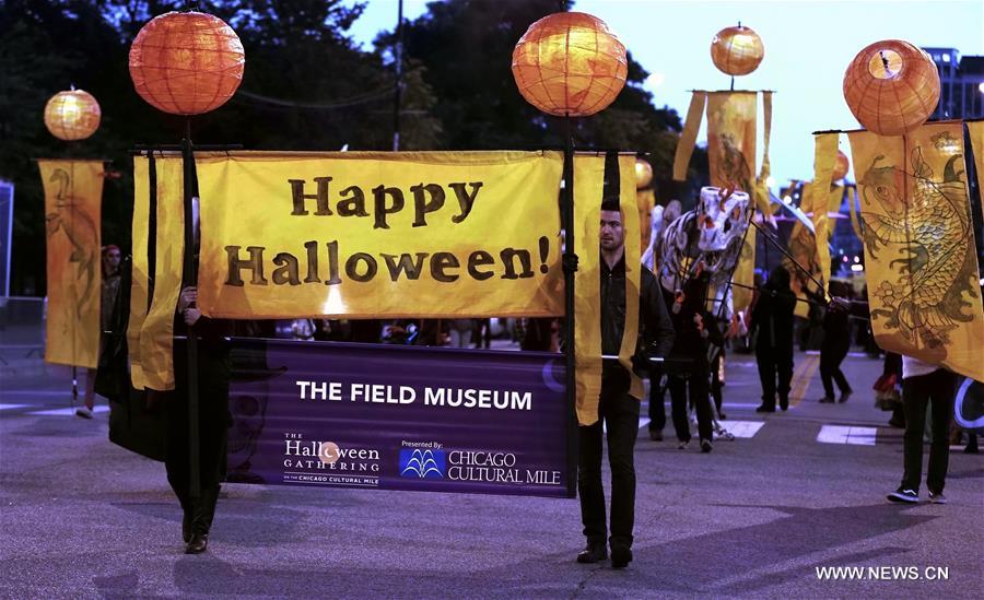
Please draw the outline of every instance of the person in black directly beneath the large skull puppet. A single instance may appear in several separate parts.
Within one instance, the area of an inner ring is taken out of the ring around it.
[[[698,415],[698,435],[701,451],[712,449],[711,424],[711,364],[707,361],[707,343],[722,345],[723,339],[714,315],[704,307],[707,294],[707,273],[698,263],[693,277],[672,301],[670,308],[676,339],[670,352],[672,358],[681,358],[684,366],[676,367],[669,375],[669,392],[673,428],[680,449],[690,445],[690,422],[687,417],[687,391]]]

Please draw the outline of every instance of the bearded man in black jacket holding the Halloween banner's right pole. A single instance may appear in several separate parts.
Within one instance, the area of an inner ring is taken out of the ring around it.
[[[625,329],[625,234],[617,198],[601,204],[601,352],[618,354]],[[648,354],[665,356],[673,343],[673,329],[666,314],[659,283],[648,269],[640,269],[640,337]],[[639,344],[636,344],[639,346]],[[636,354],[640,354],[639,352]],[[605,361],[598,421],[578,427],[577,487],[581,518],[587,546],[578,563],[597,563],[608,556],[605,538],[605,490],[601,486],[602,422],[608,430],[611,466],[611,566],[632,561],[632,528],[635,520],[634,446],[639,435],[640,401],[629,393],[631,374],[617,361]]]

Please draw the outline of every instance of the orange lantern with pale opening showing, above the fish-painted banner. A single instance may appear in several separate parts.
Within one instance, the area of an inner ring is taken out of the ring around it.
[[[876,42],[847,67],[844,99],[868,131],[902,136],[936,109],[939,72],[922,48],[901,39]]]

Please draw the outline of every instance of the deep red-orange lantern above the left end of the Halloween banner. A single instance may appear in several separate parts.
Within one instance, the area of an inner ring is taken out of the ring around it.
[[[168,12],[151,20],[130,47],[130,79],[140,97],[173,115],[200,115],[232,97],[246,56],[218,16]]]

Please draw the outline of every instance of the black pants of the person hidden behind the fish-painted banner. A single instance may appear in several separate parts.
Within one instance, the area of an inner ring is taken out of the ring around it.
[[[953,393],[957,376],[945,368],[928,375],[902,380],[902,410],[905,412],[903,452],[905,471],[902,489],[919,491],[923,472],[923,431],[926,405],[933,417],[933,443],[929,445],[929,472],[926,487],[934,494],[942,492],[950,461],[950,417],[953,414]]]

